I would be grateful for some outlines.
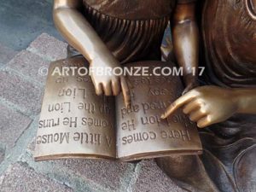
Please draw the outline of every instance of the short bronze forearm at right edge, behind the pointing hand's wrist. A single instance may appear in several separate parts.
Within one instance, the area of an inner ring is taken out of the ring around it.
[[[256,89],[234,89],[238,102],[237,113],[256,114]]]

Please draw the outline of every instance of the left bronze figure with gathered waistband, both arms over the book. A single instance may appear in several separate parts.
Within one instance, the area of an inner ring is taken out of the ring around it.
[[[174,45],[177,58],[186,69],[186,82],[195,87],[189,68],[196,67],[198,62],[195,0],[177,2],[173,17]],[[59,0],[55,1],[54,20],[67,42],[84,55],[90,66],[119,67],[131,61],[160,60],[161,39],[175,5],[174,0]],[[119,81],[119,77],[92,74],[92,79],[97,95],[118,95],[123,85],[123,94],[129,101],[123,77]]]

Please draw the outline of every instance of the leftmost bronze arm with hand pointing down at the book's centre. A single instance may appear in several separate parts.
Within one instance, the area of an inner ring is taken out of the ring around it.
[[[75,49],[84,55],[90,62],[90,67],[120,67],[111,51],[96,34],[90,23],[79,12],[83,6],[82,0],[55,0],[54,21],[61,35],[67,39]],[[122,90],[125,105],[130,104],[130,92],[123,76],[115,76],[112,73],[98,75],[92,70],[91,79],[96,88],[96,94],[117,96]]]

